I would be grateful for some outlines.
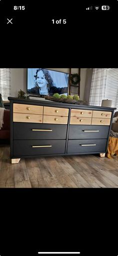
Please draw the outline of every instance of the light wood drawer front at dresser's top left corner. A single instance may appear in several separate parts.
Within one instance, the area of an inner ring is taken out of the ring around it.
[[[13,112],[27,114],[42,114],[43,106],[13,103]]]

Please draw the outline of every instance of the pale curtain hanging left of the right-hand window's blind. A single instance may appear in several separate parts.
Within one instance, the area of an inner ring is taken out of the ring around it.
[[[106,68],[93,68],[89,105],[101,106],[105,96]]]

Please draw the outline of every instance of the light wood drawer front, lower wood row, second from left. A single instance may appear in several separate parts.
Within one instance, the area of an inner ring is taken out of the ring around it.
[[[43,115],[43,123],[67,124],[68,117],[57,115]]]

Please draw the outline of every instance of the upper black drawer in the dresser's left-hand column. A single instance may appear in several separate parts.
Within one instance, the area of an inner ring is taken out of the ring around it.
[[[13,122],[13,140],[64,140],[66,130],[66,124]]]

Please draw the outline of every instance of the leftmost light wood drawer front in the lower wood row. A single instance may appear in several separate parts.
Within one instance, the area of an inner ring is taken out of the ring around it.
[[[13,122],[42,122],[42,115],[13,113]]]

